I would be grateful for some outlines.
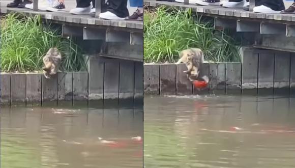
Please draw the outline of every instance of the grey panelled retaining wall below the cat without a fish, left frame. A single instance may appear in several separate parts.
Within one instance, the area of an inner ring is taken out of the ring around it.
[[[1,74],[1,105],[143,103],[143,63],[90,58],[90,72]]]

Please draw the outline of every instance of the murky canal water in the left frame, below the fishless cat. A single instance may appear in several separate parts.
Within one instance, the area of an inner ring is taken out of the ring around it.
[[[142,167],[142,118],[142,108],[1,108],[1,167]]]

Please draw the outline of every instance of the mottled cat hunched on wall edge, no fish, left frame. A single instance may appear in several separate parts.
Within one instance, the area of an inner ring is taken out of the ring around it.
[[[43,74],[45,78],[49,79],[56,75],[59,71],[62,62],[62,54],[57,48],[50,48],[43,57]]]

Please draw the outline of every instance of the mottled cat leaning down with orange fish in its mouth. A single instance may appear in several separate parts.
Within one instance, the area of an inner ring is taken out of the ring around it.
[[[184,63],[188,70],[184,71],[188,78],[197,80],[199,77],[199,69],[204,62],[204,53],[199,48],[189,48],[180,52],[180,59],[176,64]]]

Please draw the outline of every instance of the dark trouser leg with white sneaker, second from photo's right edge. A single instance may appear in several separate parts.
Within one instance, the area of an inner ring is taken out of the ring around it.
[[[257,13],[280,13],[285,9],[283,0],[261,0],[253,11]]]

